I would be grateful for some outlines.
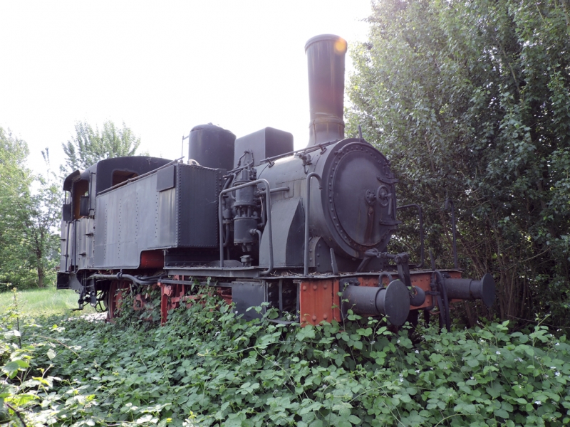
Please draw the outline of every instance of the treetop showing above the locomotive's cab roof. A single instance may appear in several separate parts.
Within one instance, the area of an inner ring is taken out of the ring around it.
[[[66,144],[61,144],[66,158],[66,172],[86,169],[102,159],[134,156],[140,145],[140,138],[123,123],[123,128],[108,121],[103,131],[91,127],[87,122],[76,123],[76,135]]]

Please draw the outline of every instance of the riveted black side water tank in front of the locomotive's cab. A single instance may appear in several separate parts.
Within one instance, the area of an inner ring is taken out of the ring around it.
[[[220,171],[175,169],[170,189],[157,191],[158,170],[97,196],[94,267],[138,268],[140,253],[150,249],[217,248]]]

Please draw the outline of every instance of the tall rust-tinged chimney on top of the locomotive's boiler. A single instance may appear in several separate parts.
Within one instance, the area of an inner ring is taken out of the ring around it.
[[[305,45],[309,63],[309,146],[344,138],[344,56],[346,41],[321,34]]]

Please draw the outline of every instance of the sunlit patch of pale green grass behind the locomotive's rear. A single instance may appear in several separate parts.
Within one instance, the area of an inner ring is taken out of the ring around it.
[[[55,288],[22,290],[17,292],[17,298],[20,312],[32,317],[81,316],[95,312],[90,305],[84,305],[81,311],[71,311],[78,307],[78,294],[73,290],[56,290]],[[12,304],[14,304],[14,292],[0,292],[0,313],[8,310]]]

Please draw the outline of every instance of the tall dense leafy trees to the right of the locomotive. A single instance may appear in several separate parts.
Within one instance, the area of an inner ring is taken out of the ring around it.
[[[462,265],[494,273],[497,314],[550,313],[560,325],[570,324],[567,7],[374,1],[348,89],[349,132],[361,123],[391,160],[401,203],[425,207],[438,265],[450,265],[450,198]]]

